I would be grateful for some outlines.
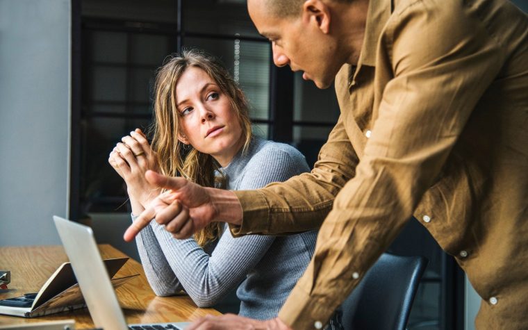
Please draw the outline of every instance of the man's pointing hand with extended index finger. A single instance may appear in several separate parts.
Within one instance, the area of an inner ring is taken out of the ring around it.
[[[141,229],[156,219],[174,238],[188,238],[213,221],[240,224],[242,207],[229,190],[205,188],[181,177],[169,177],[147,171],[149,183],[167,189],[151,201],[126,229],[124,240],[131,241]]]

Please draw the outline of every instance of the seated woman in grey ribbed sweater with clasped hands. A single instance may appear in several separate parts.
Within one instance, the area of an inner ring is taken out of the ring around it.
[[[155,90],[152,147],[136,130],[109,158],[126,181],[133,216],[159,194],[144,178],[149,169],[231,190],[261,188],[309,170],[293,147],[251,134],[244,94],[213,58],[183,51],[160,68]],[[215,223],[176,240],[153,221],[136,242],[156,295],[184,289],[206,307],[238,286],[240,315],[263,320],[277,316],[311,259],[316,236],[235,239],[225,224]]]

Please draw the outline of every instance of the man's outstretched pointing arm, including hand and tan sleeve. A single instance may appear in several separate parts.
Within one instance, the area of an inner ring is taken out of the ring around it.
[[[149,183],[170,191],[158,196],[138,216],[124,233],[124,240],[132,240],[154,217],[179,239],[188,238],[212,221],[234,225],[231,233],[237,236],[242,217],[250,220],[244,223],[244,233],[279,234],[317,228],[331,210],[334,197],[354,176],[357,162],[340,117],[312,172],[286,183],[272,183],[270,190],[204,188],[181,177],[147,171]]]

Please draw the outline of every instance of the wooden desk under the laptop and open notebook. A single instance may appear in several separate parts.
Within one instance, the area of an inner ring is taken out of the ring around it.
[[[110,245],[99,245],[103,258],[126,256]],[[61,263],[68,261],[60,245],[38,247],[0,247],[0,270],[11,271],[8,290],[0,290],[0,299],[19,297],[27,292],[38,292]],[[117,272],[118,277],[140,274],[117,288],[117,299],[123,308],[126,322],[182,322],[196,320],[207,314],[220,315],[213,308],[198,308],[190,297],[156,297],[145,272],[137,261],[129,259]],[[0,325],[75,319],[76,329],[93,328],[88,308],[27,319],[0,315]]]

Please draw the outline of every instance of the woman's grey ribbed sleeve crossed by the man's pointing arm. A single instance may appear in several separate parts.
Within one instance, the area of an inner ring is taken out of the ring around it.
[[[306,172],[308,165],[304,157],[292,147],[274,148],[269,144],[261,151],[251,157],[247,165],[236,178],[240,189],[261,188],[267,183],[274,181],[284,181],[290,176]],[[150,265],[159,274],[156,280],[160,281],[160,275],[167,279],[167,286],[158,286],[165,292],[170,292],[171,288],[176,288],[177,283],[181,283],[185,291],[199,307],[212,306],[218,302],[227,292],[236,288],[245,279],[247,274],[256,267],[267,249],[274,242],[272,236],[245,236],[243,238],[233,238],[226,230],[222,234],[217,246],[211,256],[204,249],[199,247],[192,239],[176,240],[165,231],[163,226],[156,222],[151,222],[151,229],[158,242],[158,250],[155,254],[163,258],[164,262],[157,258],[149,258]],[[149,228],[149,227],[147,227]],[[144,235],[141,236],[143,238]],[[138,247],[139,247],[138,243]],[[154,254],[149,253],[143,254]],[[143,257],[142,257],[143,260]],[[170,272],[167,272],[167,267]],[[147,268],[145,268],[147,272]],[[173,277],[170,277],[172,273]],[[179,280],[179,282],[178,282]],[[150,282],[150,280],[149,280]],[[151,283],[154,283],[152,281]],[[176,283],[176,285],[175,285]]]

